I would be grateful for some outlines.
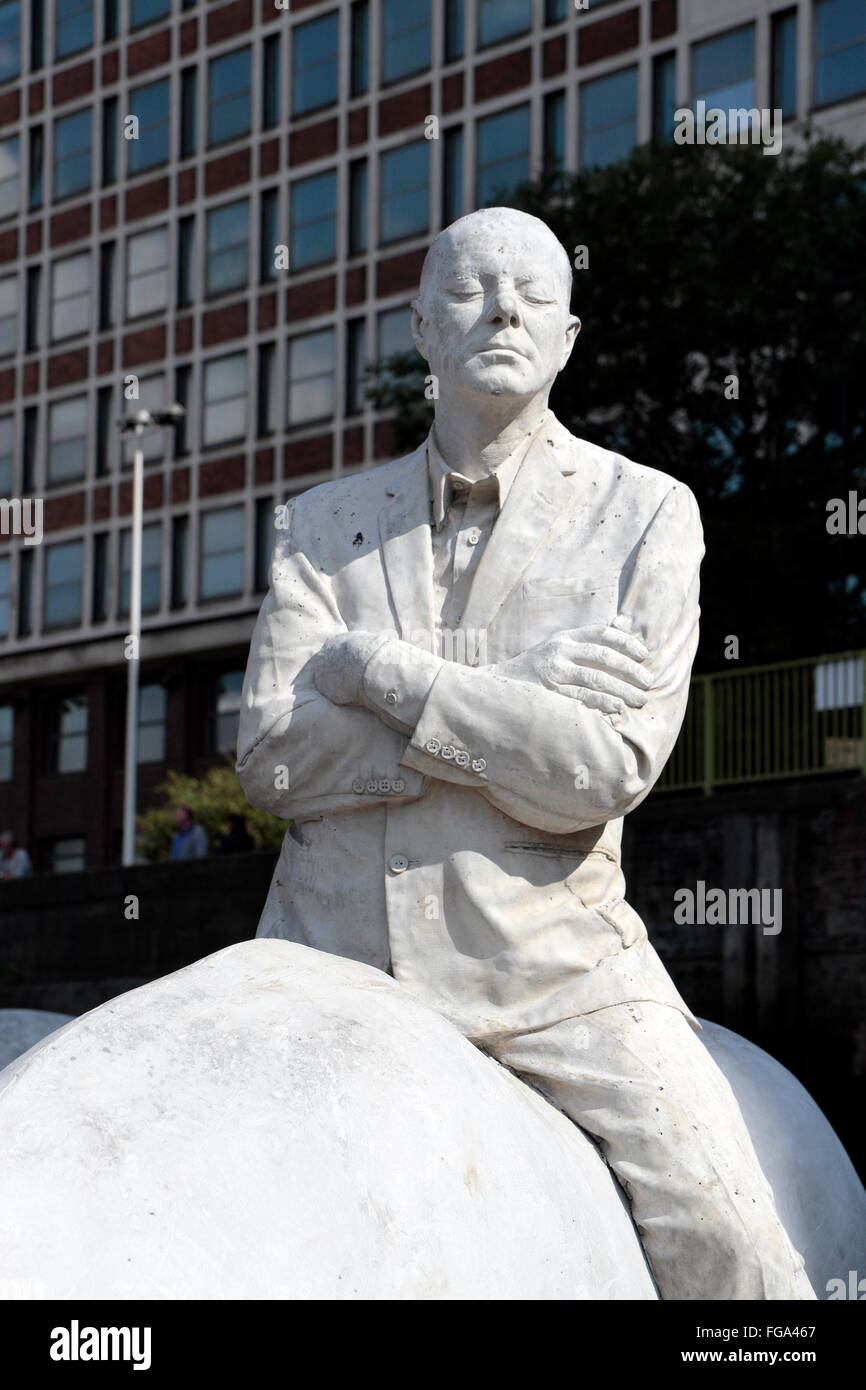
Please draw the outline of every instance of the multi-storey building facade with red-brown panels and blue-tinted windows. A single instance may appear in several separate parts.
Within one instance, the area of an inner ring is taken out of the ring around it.
[[[539,172],[781,108],[866,138],[866,0],[0,0],[0,828],[120,858],[131,445],[140,803],[234,748],[274,507],[391,453],[432,235]],[[26,516],[26,512],[24,513]]]

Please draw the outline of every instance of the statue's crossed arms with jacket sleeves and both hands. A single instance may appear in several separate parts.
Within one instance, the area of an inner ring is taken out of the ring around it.
[[[626,815],[683,721],[702,553],[695,500],[674,485],[635,548],[616,626],[563,631],[498,666],[468,667],[392,632],[349,631],[289,528],[243,687],[238,774],[249,801],[286,817],[392,801],[353,790],[373,769],[399,778],[403,799],[436,777],[557,834]]]

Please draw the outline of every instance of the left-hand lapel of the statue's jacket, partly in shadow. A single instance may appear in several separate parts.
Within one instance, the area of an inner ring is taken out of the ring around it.
[[[410,455],[379,512],[382,563],[400,637],[434,631],[427,442]]]

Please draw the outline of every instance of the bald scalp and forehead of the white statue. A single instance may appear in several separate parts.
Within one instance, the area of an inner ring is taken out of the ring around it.
[[[423,304],[436,293],[442,274],[466,253],[471,257],[474,247],[488,256],[500,257],[503,265],[509,268],[512,265],[520,268],[521,263],[525,264],[538,256],[549,257],[548,264],[555,268],[562,303],[566,309],[570,306],[571,263],[564,246],[546,222],[516,207],[482,207],[477,213],[459,217],[434,238],[421,267],[418,299]]]

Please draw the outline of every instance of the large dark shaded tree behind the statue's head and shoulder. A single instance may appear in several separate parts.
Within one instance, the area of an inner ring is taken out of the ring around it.
[[[865,646],[866,546],[827,506],[866,482],[866,150],[809,131],[777,157],[644,146],[509,202],[588,260],[555,413],[698,498],[698,666],[728,634],[746,664]],[[420,379],[379,389],[400,449],[430,424]]]

